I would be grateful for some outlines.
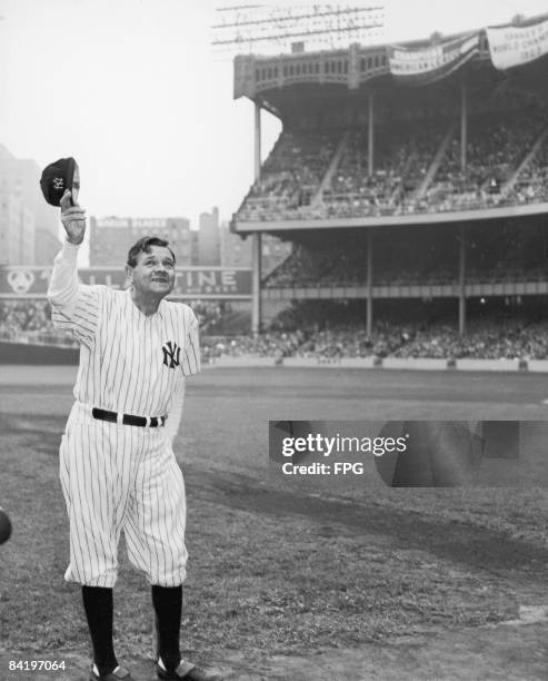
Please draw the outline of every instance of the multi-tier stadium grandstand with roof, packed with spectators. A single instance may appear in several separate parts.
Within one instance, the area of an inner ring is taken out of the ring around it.
[[[236,57],[256,139],[262,109],[282,124],[231,223],[259,354],[546,357],[547,36],[548,14]],[[291,244],[265,277],[262,234]]]

